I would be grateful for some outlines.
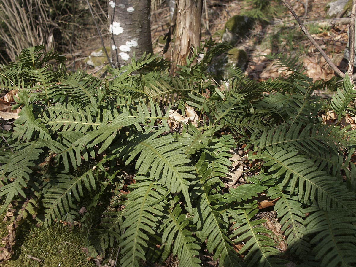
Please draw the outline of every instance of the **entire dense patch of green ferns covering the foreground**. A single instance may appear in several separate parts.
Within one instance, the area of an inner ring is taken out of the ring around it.
[[[204,257],[219,266],[355,265],[355,130],[321,122],[325,103],[312,95],[321,83],[293,59],[270,56],[293,70],[287,78],[256,83],[231,70],[220,90],[208,64],[229,47],[205,47],[194,51],[205,60],[189,59],[175,78],[148,55],[104,81],[67,73],[43,47],[0,66],[2,92],[17,90],[21,107],[0,133],[1,212],[12,206],[16,224],[80,222],[88,257],[115,247],[120,266],[200,266]],[[342,86],[330,101],[339,119],[355,95],[348,77]],[[185,115],[186,104],[197,126],[172,127],[170,110]],[[231,187],[224,178],[238,146],[251,171]],[[279,239],[261,216],[262,195],[275,201]]]

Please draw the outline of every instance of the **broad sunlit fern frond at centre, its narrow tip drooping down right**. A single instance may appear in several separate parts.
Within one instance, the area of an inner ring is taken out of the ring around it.
[[[142,133],[131,139],[120,156],[129,164],[136,156],[138,173],[149,173],[166,186],[172,193],[182,192],[189,211],[192,210],[188,188],[195,178],[194,167],[187,166],[191,161],[182,151],[182,145],[174,142],[172,135],[161,136],[164,130]]]

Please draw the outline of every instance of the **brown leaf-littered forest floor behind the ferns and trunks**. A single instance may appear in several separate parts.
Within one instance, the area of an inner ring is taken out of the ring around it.
[[[151,35],[153,50],[155,54],[161,55],[170,60],[172,55],[172,46],[168,48],[167,53],[163,54],[164,43],[163,36],[168,32],[169,28],[169,9],[166,1],[152,1],[155,6],[151,11]],[[307,15],[305,15],[304,2],[300,0],[290,1],[294,10],[302,18],[303,21],[319,21],[327,19],[326,5],[329,0],[310,0],[308,1]],[[224,31],[225,22],[234,15],[246,14],[251,10],[251,6],[239,0],[208,0],[207,12],[203,10],[203,25],[201,41],[212,38],[215,42],[221,42],[221,35]],[[245,40],[236,44],[239,49],[244,49],[248,54],[248,66],[245,74],[250,78],[258,81],[268,78],[277,78],[284,73],[278,66],[274,66],[273,62],[268,60],[263,55],[269,53],[284,53],[291,57],[299,59],[300,63],[306,69],[309,77],[315,80],[329,80],[334,77],[334,71],[328,66],[325,59],[304,36],[298,23],[294,17],[283,5],[274,6],[270,14],[269,25],[256,24]],[[208,25],[208,26],[206,26]],[[315,27],[307,26],[310,33],[316,42],[324,49],[326,54],[341,70],[346,69],[347,62],[344,57],[344,49],[347,44],[347,29],[348,25],[334,27]],[[105,30],[103,30],[105,32]],[[105,45],[110,45],[109,36],[104,34]],[[101,75],[104,69],[100,67],[90,67],[86,65],[86,56],[91,52],[101,48],[100,38],[95,28],[93,28],[87,38],[77,46],[75,57],[68,57],[68,66],[73,66],[75,59],[75,68],[86,69],[94,75]],[[79,63],[79,64],[78,64]]]

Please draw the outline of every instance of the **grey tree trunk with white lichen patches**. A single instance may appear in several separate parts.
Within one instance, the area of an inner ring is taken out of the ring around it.
[[[131,62],[133,53],[140,58],[152,53],[151,0],[108,0],[111,59],[117,68]]]

